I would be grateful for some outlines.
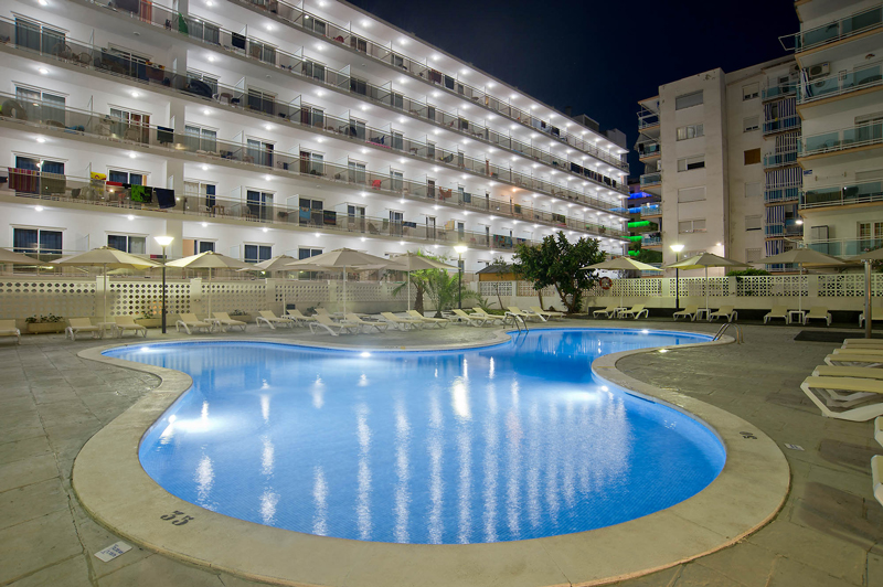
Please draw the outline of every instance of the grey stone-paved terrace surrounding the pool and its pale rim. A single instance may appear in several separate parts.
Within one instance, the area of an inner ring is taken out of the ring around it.
[[[712,332],[716,325],[671,321],[567,320],[566,325],[628,325]],[[745,418],[781,447],[791,492],[766,527],[735,546],[620,585],[840,587],[883,585],[883,506],[874,499],[869,462],[883,447],[872,423],[822,418],[799,383],[834,344],[795,342],[801,327],[743,325],[746,343],[684,349],[621,360],[625,373],[674,387]],[[288,329],[262,338],[358,346],[476,343],[499,329],[359,337],[311,337]],[[854,335],[859,331],[854,330]],[[231,339],[257,335],[230,332]],[[88,337],[88,335],[86,335]],[[150,332],[148,341],[161,338]],[[187,338],[174,331],[164,340]],[[128,339],[128,338],[127,338]],[[140,340],[140,339],[139,339]],[[93,522],[71,489],[74,458],[92,435],[157,385],[150,375],[99,365],[77,352],[108,341],[25,335],[0,342],[0,585],[188,586],[256,585],[135,546],[103,563],[94,555],[119,540]],[[113,342],[113,341],[110,341]],[[785,448],[795,444],[802,451]],[[624,553],[632,556],[636,553]]]

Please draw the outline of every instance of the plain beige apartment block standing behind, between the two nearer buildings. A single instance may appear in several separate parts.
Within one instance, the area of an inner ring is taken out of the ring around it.
[[[773,175],[767,177],[772,154],[764,153],[787,141],[778,137],[784,130],[762,89],[791,62],[712,70],[659,86],[658,96],[639,103],[640,186],[659,198],[647,207],[659,234],[645,246],[661,250],[666,264],[702,252],[756,263],[765,256],[767,236],[778,237],[773,224],[779,216],[765,210]],[[682,245],[681,253],[672,245]]]

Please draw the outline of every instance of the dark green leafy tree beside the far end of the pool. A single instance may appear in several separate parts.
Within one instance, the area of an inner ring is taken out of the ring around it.
[[[579,238],[571,243],[558,232],[546,236],[539,245],[519,245],[513,262],[515,273],[533,281],[533,289],[539,291],[554,286],[567,312],[573,313],[579,310],[583,291],[598,281],[596,270],[581,267],[600,263],[604,257],[597,239]]]

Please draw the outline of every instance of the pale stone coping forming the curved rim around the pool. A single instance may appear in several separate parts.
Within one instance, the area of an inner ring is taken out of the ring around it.
[[[582,324],[555,327],[593,329]],[[493,340],[466,345],[365,349],[453,350],[491,346],[509,339],[508,333],[500,331]],[[289,343],[278,339],[230,341],[353,350],[339,344]],[[190,387],[192,380],[182,372],[100,354],[119,346],[140,346],[145,341],[94,346],[78,353],[84,359],[151,373],[161,383],[86,442],[74,462],[72,485],[86,512],[115,534],[150,551],[247,579],[329,587],[603,585],[730,546],[768,523],[784,505],[790,471],[781,450],[768,436],[726,410],[677,389],[637,381],[616,369],[620,359],[635,354],[675,349],[689,352],[695,346],[730,342],[733,339],[624,351],[593,362],[592,370],[599,377],[706,424],[726,447],[727,459],[721,474],[692,498],[636,520],[588,532],[491,544],[375,543],[264,526],[185,502],[168,493],[145,472],[138,460],[138,446],[147,429]],[[184,519],[185,515],[191,519]]]

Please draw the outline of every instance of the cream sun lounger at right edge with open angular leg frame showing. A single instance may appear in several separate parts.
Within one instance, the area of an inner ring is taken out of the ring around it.
[[[800,384],[823,416],[850,421],[865,421],[883,415],[883,381],[855,377],[809,376]],[[830,401],[837,395],[854,396],[854,401]],[[860,404],[860,405],[854,405]]]

